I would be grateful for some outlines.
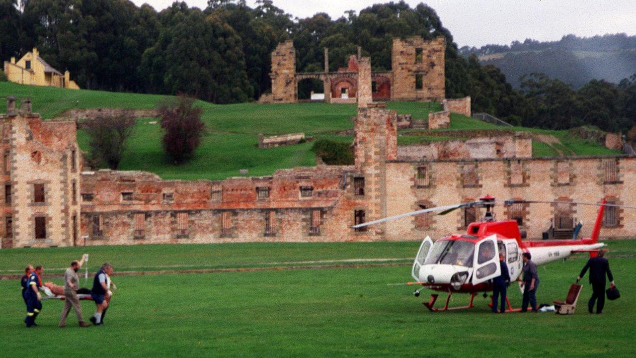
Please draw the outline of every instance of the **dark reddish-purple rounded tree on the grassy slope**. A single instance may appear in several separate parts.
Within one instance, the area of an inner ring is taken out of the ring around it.
[[[201,120],[201,108],[193,106],[195,99],[179,96],[167,99],[159,106],[163,135],[163,150],[174,164],[181,164],[190,158],[205,133]]]

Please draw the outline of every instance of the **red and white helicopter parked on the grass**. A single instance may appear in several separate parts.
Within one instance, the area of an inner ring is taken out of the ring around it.
[[[594,224],[591,238],[580,240],[540,240],[522,241],[525,233],[519,230],[516,220],[494,219],[492,208],[495,206],[495,198],[492,196],[481,197],[479,201],[472,203],[454,204],[448,206],[438,206],[436,208],[426,208],[395,215],[393,217],[382,218],[358,224],[356,227],[369,226],[395,220],[410,215],[418,215],[431,211],[441,211],[439,215],[445,215],[450,211],[464,207],[486,208],[486,213],[481,222],[473,222],[467,227],[465,234],[453,234],[440,238],[433,243],[427,236],[417,252],[411,275],[416,282],[409,282],[408,285],[422,285],[422,288],[413,294],[417,297],[420,290],[429,288],[432,290],[446,292],[446,304],[442,311],[458,308],[473,307],[473,299],[476,294],[492,291],[492,278],[501,275],[499,266],[499,252],[504,253],[508,263],[511,282],[517,280],[522,273],[522,254],[529,252],[532,261],[537,265],[547,264],[557,260],[562,260],[576,252],[589,252],[590,256],[597,254],[598,249],[604,247],[604,243],[598,242],[598,234],[603,219],[605,206],[619,206],[606,204],[605,198],[601,203],[572,203],[560,201],[525,201],[507,200],[504,205],[508,206],[517,203],[557,203],[557,204],[581,204],[600,206],[598,216]],[[620,206],[628,207],[628,206]],[[448,302],[453,293],[471,294],[468,306],[448,308]],[[437,299],[437,294],[431,294],[431,301],[424,305],[431,311],[439,311],[433,308]],[[506,300],[508,300],[506,298]],[[514,311],[508,302],[508,310]]]

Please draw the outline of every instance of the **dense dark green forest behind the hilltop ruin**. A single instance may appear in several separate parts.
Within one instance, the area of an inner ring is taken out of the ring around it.
[[[575,90],[534,73],[516,90],[497,66],[461,55],[423,3],[375,4],[334,19],[293,18],[270,0],[254,8],[244,0],[210,0],[203,10],[175,2],[159,12],[128,0],[0,0],[0,59],[38,47],[82,88],[183,93],[213,103],[253,101],[270,90],[270,54],[280,41],[294,41],[299,72],[322,71],[324,47],[331,70],[345,66],[357,46],[374,69],[390,69],[392,38],[407,36],[445,36],[446,97],[471,96],[473,111],[553,129],[591,124],[625,132],[636,123],[636,77]]]

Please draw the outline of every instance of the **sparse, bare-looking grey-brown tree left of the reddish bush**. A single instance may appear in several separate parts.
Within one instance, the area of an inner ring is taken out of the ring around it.
[[[86,133],[90,138],[90,156],[98,166],[119,167],[126,150],[126,140],[132,134],[135,119],[132,117],[104,117],[86,122]]]

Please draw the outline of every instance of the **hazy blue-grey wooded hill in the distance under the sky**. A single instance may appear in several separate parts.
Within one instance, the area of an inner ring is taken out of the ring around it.
[[[461,55],[475,54],[481,64],[493,64],[506,79],[519,88],[525,73],[544,73],[579,88],[590,80],[618,83],[636,73],[636,36],[607,34],[579,38],[572,34],[559,41],[534,39],[511,45],[462,47]]]

